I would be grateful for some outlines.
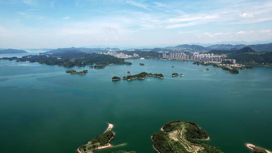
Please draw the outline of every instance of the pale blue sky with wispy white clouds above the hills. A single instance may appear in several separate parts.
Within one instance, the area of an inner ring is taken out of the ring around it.
[[[272,1],[0,0],[0,48],[272,40]]]

